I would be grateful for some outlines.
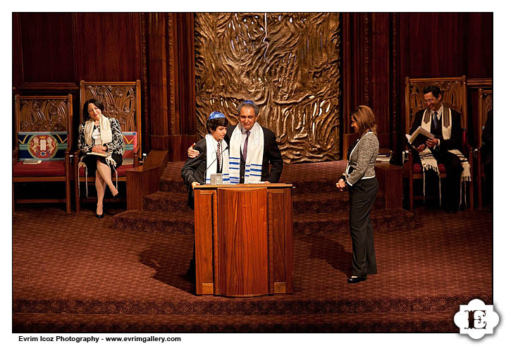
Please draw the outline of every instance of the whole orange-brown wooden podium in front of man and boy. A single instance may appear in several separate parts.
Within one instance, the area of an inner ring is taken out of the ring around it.
[[[197,295],[293,293],[292,185],[199,185]]]

